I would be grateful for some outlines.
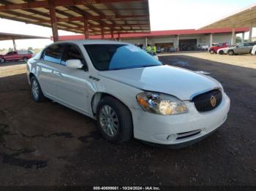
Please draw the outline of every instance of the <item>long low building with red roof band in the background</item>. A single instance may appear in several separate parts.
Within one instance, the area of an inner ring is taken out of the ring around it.
[[[249,31],[249,28],[235,28],[236,34]],[[232,41],[232,28],[214,28],[214,29],[186,29],[171,31],[151,31],[143,34],[120,34],[118,37],[123,42],[140,44],[146,47],[146,44],[155,44],[157,47],[176,47],[179,50],[195,50],[199,44],[211,45]],[[84,35],[59,36],[59,40],[84,39]],[[102,39],[102,36],[89,36],[89,39]],[[104,39],[111,39],[110,35],[105,35]]]

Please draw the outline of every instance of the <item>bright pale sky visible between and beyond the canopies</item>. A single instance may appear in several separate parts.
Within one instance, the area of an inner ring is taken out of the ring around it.
[[[201,28],[231,15],[241,9],[256,4],[256,0],[148,0],[151,31]],[[50,28],[20,23],[0,18],[0,32],[52,36]],[[253,36],[256,36],[254,28]],[[59,35],[71,35],[59,31]],[[248,36],[248,34],[246,35]],[[18,49],[42,48],[50,44],[50,39],[17,40]],[[12,47],[12,41],[0,41],[0,48]]]

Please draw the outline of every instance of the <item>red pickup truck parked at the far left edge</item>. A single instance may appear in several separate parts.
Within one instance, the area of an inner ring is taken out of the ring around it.
[[[29,58],[32,58],[34,55],[30,50],[18,50],[8,52],[6,55],[0,55],[0,63],[4,63],[6,61],[28,61]]]

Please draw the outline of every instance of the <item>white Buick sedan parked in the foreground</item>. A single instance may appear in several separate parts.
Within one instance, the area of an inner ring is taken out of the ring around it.
[[[230,109],[217,80],[164,66],[124,42],[56,42],[27,69],[34,101],[47,97],[97,120],[111,142],[184,147],[219,128]]]

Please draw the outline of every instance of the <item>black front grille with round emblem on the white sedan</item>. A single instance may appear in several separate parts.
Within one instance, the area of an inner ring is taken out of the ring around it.
[[[192,98],[198,112],[208,112],[217,108],[222,102],[222,91],[211,90]]]

